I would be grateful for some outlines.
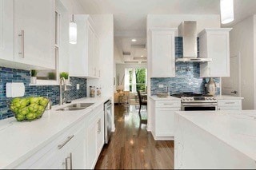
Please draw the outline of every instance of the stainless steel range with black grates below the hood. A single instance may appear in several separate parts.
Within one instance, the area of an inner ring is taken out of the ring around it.
[[[181,98],[182,111],[217,110],[217,99],[210,95],[179,93],[171,96]]]

